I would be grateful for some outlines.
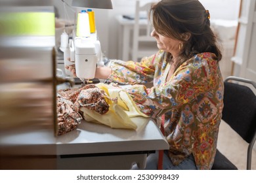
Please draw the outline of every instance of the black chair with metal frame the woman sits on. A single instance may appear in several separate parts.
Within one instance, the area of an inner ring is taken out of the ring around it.
[[[235,82],[228,82],[233,80]],[[224,80],[223,121],[226,122],[244,141],[249,143],[247,149],[247,170],[251,169],[251,154],[256,141],[256,95],[251,88],[238,82],[251,84],[256,88],[256,82],[236,76]],[[235,152],[234,152],[235,153]],[[237,170],[219,150],[216,152],[213,170]]]

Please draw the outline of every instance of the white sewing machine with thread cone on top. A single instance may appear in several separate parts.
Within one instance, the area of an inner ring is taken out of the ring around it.
[[[68,40],[68,35],[64,32],[60,39],[60,50],[64,52],[64,65],[75,63],[75,74],[83,84],[95,78],[96,67],[104,65],[100,41],[95,29],[93,33],[90,31],[91,26],[93,25],[89,22],[89,14],[86,10],[81,10],[77,14],[76,37]],[[68,69],[65,69],[65,73],[72,76]]]

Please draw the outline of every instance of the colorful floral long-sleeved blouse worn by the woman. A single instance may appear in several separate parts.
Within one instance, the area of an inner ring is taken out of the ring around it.
[[[163,51],[140,63],[116,60],[110,67],[109,81],[132,84],[128,92],[144,114],[157,122],[165,114],[164,135],[173,165],[193,154],[198,169],[211,169],[224,91],[215,54],[196,54],[182,63],[168,81],[170,64]],[[139,85],[152,81],[152,88]]]

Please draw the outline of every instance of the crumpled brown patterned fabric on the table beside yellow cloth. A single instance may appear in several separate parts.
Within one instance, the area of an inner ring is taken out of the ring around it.
[[[104,99],[106,93],[94,84],[79,89],[58,90],[58,94],[58,135],[74,130],[81,123],[83,119],[79,113],[81,107],[94,110],[99,114],[106,114],[109,109],[109,105]]]

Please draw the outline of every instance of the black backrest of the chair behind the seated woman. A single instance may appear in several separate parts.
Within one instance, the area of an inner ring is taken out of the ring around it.
[[[225,80],[223,120],[246,142],[251,143],[256,133],[255,93],[247,86],[228,82],[228,80],[246,81],[236,77],[230,77]],[[252,82],[252,84],[256,83]]]

